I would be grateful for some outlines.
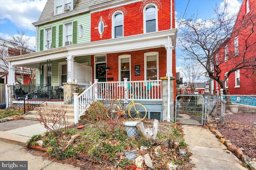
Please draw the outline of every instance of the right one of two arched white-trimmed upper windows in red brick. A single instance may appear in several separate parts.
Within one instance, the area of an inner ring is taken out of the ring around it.
[[[155,4],[148,4],[144,8],[144,33],[158,31],[157,11],[157,6]]]

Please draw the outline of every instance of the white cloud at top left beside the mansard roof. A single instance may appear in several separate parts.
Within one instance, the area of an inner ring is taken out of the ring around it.
[[[38,21],[47,0],[1,0],[0,19],[10,20],[17,27],[35,31],[32,22]]]

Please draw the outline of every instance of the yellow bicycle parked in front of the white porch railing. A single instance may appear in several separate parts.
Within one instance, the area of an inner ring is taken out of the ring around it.
[[[109,114],[112,114],[112,116],[115,116],[118,112],[122,111],[122,115],[126,115],[126,111],[128,111],[128,115],[135,121],[142,121],[145,119],[147,115],[147,109],[144,105],[139,103],[134,103],[133,100],[133,94],[132,101],[126,105],[125,107],[122,107],[122,104],[120,103],[120,99],[117,100],[117,104],[110,104],[107,106],[107,117],[109,117]],[[119,105],[119,106],[118,106]]]

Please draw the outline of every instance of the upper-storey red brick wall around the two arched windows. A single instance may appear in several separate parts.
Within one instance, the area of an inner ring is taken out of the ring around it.
[[[158,6],[158,31],[170,29],[170,0],[155,1]],[[160,3],[158,3],[160,2]],[[99,41],[112,38],[112,15],[116,11],[122,11],[124,14],[124,36],[136,35],[143,33],[143,9],[149,3],[154,3],[154,0],[146,0],[110,8],[104,11],[91,14],[91,41]],[[174,4],[173,4],[174,18]],[[102,37],[98,32],[98,24],[100,20],[104,21],[104,31]],[[172,21],[175,27],[175,21]]]

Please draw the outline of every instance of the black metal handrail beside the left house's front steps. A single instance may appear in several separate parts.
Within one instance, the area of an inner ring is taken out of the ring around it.
[[[24,114],[34,109],[35,107],[39,107],[41,104],[43,104],[51,98],[50,87],[50,85],[46,85],[28,94],[24,94]]]

